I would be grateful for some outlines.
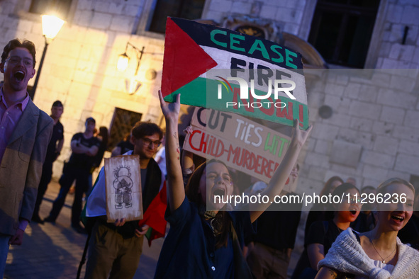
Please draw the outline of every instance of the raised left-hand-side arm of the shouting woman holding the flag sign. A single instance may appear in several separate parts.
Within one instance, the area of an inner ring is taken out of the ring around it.
[[[180,109],[180,94],[175,103],[166,103],[159,90],[160,106],[166,120],[166,168],[167,193],[169,195],[170,210],[174,211],[185,199],[184,181],[180,166],[180,147],[177,124]]]

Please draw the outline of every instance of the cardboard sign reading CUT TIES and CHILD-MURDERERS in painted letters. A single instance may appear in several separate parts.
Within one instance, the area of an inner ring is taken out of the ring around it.
[[[269,183],[281,163],[290,137],[234,113],[196,108],[184,149]],[[287,185],[284,190],[295,190]]]

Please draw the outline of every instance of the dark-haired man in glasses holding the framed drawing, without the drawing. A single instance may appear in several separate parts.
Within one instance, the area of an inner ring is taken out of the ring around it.
[[[106,222],[106,180],[104,167],[86,203],[86,216],[94,217],[84,278],[133,278],[143,251],[144,235],[164,237],[166,190],[164,176],[153,159],[162,144],[163,133],[150,122],[138,122],[131,130],[134,150],[124,155],[140,156],[143,220]],[[147,234],[149,235],[149,234]]]

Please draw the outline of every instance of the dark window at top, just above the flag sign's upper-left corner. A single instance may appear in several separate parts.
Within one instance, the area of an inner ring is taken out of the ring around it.
[[[205,0],[157,0],[147,30],[164,34],[166,18],[198,19],[201,18]]]

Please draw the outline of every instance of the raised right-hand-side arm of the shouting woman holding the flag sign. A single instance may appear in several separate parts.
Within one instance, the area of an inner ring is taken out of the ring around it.
[[[298,120],[294,120],[294,129],[291,141],[289,142],[284,159],[282,159],[281,164],[279,164],[278,168],[276,168],[276,171],[274,172],[271,181],[269,181],[267,188],[260,193],[260,195],[267,195],[269,197],[269,202],[260,204],[250,203],[249,205],[250,220],[252,220],[252,222],[257,220],[262,212],[264,212],[264,210],[271,205],[271,202],[274,203],[275,195],[279,195],[279,193],[281,193],[281,190],[284,188],[286,180],[289,177],[289,173],[291,173],[292,168],[296,164],[301,147],[303,147],[303,144],[306,142],[308,134],[313,127],[310,125],[307,130],[302,131],[299,129],[298,125]]]

